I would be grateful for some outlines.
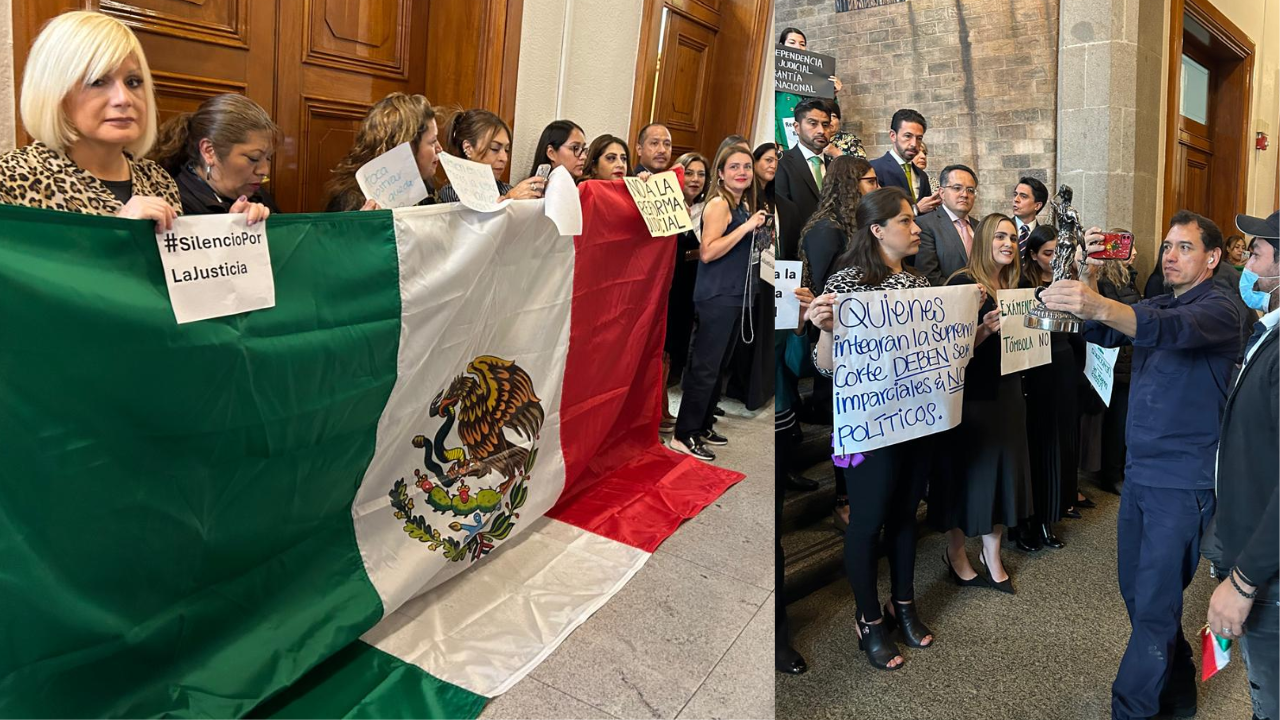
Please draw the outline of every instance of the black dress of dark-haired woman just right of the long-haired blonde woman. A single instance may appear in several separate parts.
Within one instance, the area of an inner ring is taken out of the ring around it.
[[[1080,345],[1079,351],[1075,345]],[[1080,468],[1078,384],[1084,370],[1083,342],[1079,333],[1050,333],[1050,350],[1048,365],[1023,372],[1032,509],[1041,523],[1061,520],[1062,512],[1075,505]]]

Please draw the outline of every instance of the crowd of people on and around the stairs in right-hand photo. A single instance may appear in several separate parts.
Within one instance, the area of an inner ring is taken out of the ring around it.
[[[805,47],[796,28],[786,28],[780,42]],[[1224,579],[1208,625],[1245,643],[1256,717],[1277,717],[1276,215],[1240,215],[1242,234],[1228,241],[1212,220],[1174,214],[1160,243],[1158,274],[1142,293],[1135,255],[1085,256],[1105,242],[1101,228],[1089,228],[1074,259],[1079,279],[1053,282],[1059,228],[1039,219],[1048,190],[1036,173],[1001,190],[1011,191],[1007,215],[975,217],[973,168],[947,164],[936,182],[925,172],[928,122],[920,113],[897,110],[890,149],[867,160],[859,151],[831,150],[841,133],[832,100],[796,99],[791,106],[797,142],[782,152],[777,188],[781,211],[797,214],[781,227],[803,229],[783,233],[780,246],[785,259],[803,263],[804,287],[796,291],[803,318],[777,338],[780,493],[818,487],[795,461],[797,428],[800,419],[831,424],[838,293],[977,284],[982,297],[959,425],[832,457],[833,524],[844,533],[859,648],[870,665],[902,667],[906,655],[895,637],[914,650],[936,639],[914,603],[922,501],[925,521],[946,534],[941,564],[955,584],[1015,593],[1001,561],[1006,538],[1025,552],[1065,547],[1056,524],[1096,507],[1080,492],[1083,473],[1121,496],[1117,571],[1133,633],[1119,659],[1114,717],[1194,710],[1181,611],[1202,543],[1213,547],[1204,555]],[[1043,288],[1048,309],[1085,323],[1080,333],[1051,333],[1048,364],[1002,375],[996,295],[1014,288]],[[1083,374],[1085,342],[1121,348],[1110,405]],[[800,379],[810,375],[813,391],[803,400]],[[1256,396],[1243,389],[1251,383]],[[1258,445],[1244,445],[1247,438]],[[980,569],[970,561],[969,538],[980,538]],[[781,546],[777,553],[782,565]],[[883,605],[881,555],[891,580]],[[781,569],[777,577],[781,592]],[[776,664],[782,673],[806,670],[790,644],[785,610]]]

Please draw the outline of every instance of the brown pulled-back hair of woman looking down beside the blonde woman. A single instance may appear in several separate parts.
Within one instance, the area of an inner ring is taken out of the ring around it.
[[[280,128],[257,102],[243,95],[215,95],[201,102],[195,113],[179,113],[160,126],[150,158],[178,177],[186,164],[204,164],[201,140],[209,140],[214,154],[224,160],[232,146],[247,142],[255,132],[270,135],[273,146],[280,137]]]

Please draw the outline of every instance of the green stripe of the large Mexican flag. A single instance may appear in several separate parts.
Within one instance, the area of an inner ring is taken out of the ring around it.
[[[0,208],[0,715],[241,716],[381,616],[392,217],[268,232],[276,306],[179,327],[150,223]]]

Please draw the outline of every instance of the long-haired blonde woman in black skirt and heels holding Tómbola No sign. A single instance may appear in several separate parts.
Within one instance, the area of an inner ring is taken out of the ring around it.
[[[948,286],[978,284],[973,359],[965,369],[960,427],[948,430],[941,454],[948,477],[929,480],[929,520],[947,533],[945,562],[959,585],[989,585],[1014,593],[1014,583],[1000,557],[1005,527],[1030,515],[1027,405],[1018,373],[1000,374],[1000,309],[996,293],[1019,286],[1018,228],[1005,215],[987,215],[973,238],[968,266]],[[979,575],[965,553],[965,538],[982,537]]]

